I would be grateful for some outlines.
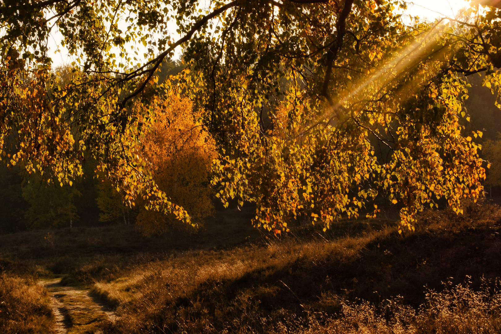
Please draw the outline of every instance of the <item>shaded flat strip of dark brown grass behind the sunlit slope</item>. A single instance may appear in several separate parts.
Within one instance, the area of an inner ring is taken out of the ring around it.
[[[190,249],[221,249],[260,240],[250,224],[252,209],[227,210],[203,229],[173,226],[144,236],[135,225],[75,227],[0,234],[0,271],[51,276],[71,274],[85,283],[113,278],[118,268],[168,258]],[[115,277],[119,278],[119,277]]]

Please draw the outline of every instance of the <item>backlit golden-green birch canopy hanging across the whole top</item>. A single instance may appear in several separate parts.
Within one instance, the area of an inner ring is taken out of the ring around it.
[[[190,222],[140,154],[177,92],[215,142],[217,196],[255,202],[258,226],[287,229],[304,215],[328,228],[342,215],[376,215],[381,197],[409,229],[440,198],[460,213],[482,193],[486,167],[481,132],[459,123],[465,76],[485,73],[497,95],[501,10],[471,3],[458,18],[409,24],[405,9],[399,0],[7,0],[2,159],[61,185],[95,159],[130,205],[141,197]],[[48,55],[56,30],[75,59],[64,81]],[[184,67],[163,80],[177,47]]]

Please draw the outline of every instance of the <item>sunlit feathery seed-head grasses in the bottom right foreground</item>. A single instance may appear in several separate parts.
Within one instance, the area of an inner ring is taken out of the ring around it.
[[[427,291],[425,303],[416,310],[401,298],[375,306],[367,301],[349,302],[331,297],[340,311],[328,317],[308,312],[306,324],[282,322],[275,332],[325,334],[495,334],[501,332],[501,292],[484,284],[479,291],[458,284],[441,292]],[[291,327],[294,330],[291,331]]]

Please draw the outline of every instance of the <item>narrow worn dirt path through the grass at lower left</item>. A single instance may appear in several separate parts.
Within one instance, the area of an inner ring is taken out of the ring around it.
[[[56,334],[94,332],[99,322],[116,319],[115,313],[89,288],[62,286],[61,278],[41,280],[40,284],[51,295]]]

